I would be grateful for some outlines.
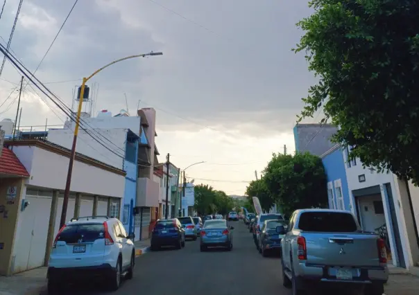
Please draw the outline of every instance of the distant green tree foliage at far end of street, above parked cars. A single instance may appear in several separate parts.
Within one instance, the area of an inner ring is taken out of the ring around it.
[[[194,187],[195,205],[194,208],[199,215],[219,213],[227,214],[234,206],[232,197],[222,190],[214,190],[207,184],[199,184]]]

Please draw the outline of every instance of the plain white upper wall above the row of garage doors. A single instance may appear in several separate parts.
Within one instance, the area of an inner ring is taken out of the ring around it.
[[[19,155],[22,154],[33,155],[31,177],[26,180],[26,184],[57,190],[65,189],[69,158],[34,146],[15,146],[13,152],[16,152],[19,159]],[[125,176],[74,161],[71,191],[122,198],[124,189]]]

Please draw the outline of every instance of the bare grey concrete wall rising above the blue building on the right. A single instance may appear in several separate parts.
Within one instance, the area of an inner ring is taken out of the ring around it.
[[[336,145],[330,142],[330,137],[337,128],[330,124],[323,127],[320,124],[298,124],[293,131],[297,152],[310,152],[321,156]]]

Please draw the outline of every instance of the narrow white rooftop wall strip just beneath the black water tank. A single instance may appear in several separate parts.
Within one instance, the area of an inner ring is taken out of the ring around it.
[[[139,136],[140,132],[140,117],[96,117],[84,118],[83,128],[85,129],[130,129]],[[71,128],[74,129],[75,123],[71,121]],[[51,129],[50,129],[51,130]]]

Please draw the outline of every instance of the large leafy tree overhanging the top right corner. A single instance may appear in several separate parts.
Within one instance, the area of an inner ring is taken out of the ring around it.
[[[300,120],[323,109],[350,159],[419,182],[419,1],[312,0],[295,51],[318,83]]]

